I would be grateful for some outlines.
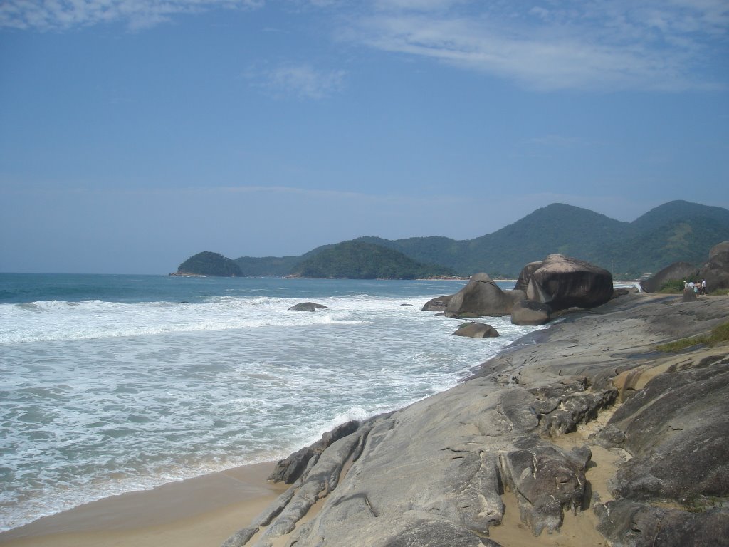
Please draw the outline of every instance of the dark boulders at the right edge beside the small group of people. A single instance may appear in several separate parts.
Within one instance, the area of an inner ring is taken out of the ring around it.
[[[709,251],[709,260],[699,268],[687,262],[676,262],[666,266],[658,274],[644,279],[640,286],[645,292],[657,292],[663,285],[682,279],[706,279],[706,286],[710,291],[729,289],[729,241],[714,245]]]

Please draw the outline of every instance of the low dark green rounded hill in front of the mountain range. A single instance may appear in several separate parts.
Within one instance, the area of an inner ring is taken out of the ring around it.
[[[402,252],[362,241],[343,241],[295,265],[293,274],[335,279],[417,279],[452,275],[445,266],[428,265]]]

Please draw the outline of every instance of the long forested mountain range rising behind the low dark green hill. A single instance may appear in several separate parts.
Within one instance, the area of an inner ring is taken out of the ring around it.
[[[703,263],[711,247],[729,241],[729,211],[671,201],[633,222],[620,222],[588,209],[553,203],[501,230],[465,241],[438,236],[353,241],[393,249],[418,263],[443,265],[460,276],[483,271],[492,277],[513,278],[527,263],[559,252],[607,268],[617,279],[635,279],[679,260]],[[300,264],[330,247],[317,247],[300,257],[241,257],[235,263],[244,276],[286,276],[301,273]],[[332,262],[330,267],[318,273],[336,277],[330,274],[344,271]]]

